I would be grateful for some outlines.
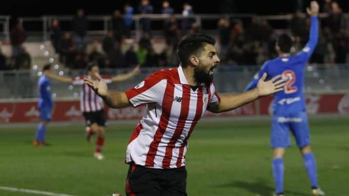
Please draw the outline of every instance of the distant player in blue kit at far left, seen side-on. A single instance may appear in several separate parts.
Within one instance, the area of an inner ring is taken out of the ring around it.
[[[47,145],[45,143],[46,126],[51,121],[51,110],[53,106],[51,96],[50,79],[46,76],[51,71],[51,65],[47,64],[43,66],[42,76],[38,81],[39,88],[39,101],[38,107],[40,110],[40,124],[36,133],[36,140],[33,142],[36,146]]]

